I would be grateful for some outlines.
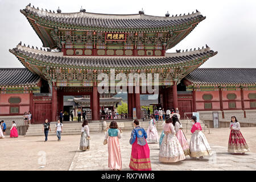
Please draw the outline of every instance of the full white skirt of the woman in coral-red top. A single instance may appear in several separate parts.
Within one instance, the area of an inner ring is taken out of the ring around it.
[[[189,149],[191,152],[190,156],[194,158],[212,155],[210,145],[202,131],[195,131],[192,134]]]

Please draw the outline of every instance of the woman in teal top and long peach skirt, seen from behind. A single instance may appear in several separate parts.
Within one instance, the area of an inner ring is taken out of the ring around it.
[[[118,138],[121,138],[122,130],[118,128],[117,122],[110,122],[109,129],[106,131],[104,143],[108,143],[109,152],[109,165],[110,169],[121,170],[122,169],[122,159],[121,159],[121,149]]]

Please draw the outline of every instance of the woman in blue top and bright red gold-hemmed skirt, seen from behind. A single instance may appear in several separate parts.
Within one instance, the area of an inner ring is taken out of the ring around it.
[[[150,148],[147,144],[147,133],[139,126],[139,121],[133,121],[134,129],[131,132],[130,144],[131,159],[129,167],[134,171],[151,171]]]

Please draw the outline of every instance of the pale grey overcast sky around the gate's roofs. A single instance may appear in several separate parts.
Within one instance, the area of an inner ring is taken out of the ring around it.
[[[143,8],[147,15],[164,16],[188,14],[199,10],[207,18],[168,52],[176,49],[205,47],[207,44],[218,54],[210,58],[201,68],[256,68],[256,1],[206,1],[206,0],[0,0],[0,53],[1,68],[22,68],[18,59],[9,52],[20,41],[26,46],[42,47],[42,42],[20,13],[28,3],[39,9],[57,10],[62,13],[80,11],[80,7],[92,13],[137,14]]]

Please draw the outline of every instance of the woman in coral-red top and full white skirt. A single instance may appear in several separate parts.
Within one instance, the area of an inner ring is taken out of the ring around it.
[[[196,121],[195,115],[191,117],[191,120],[194,124],[191,128],[192,136],[189,144],[191,152],[190,157],[192,159],[196,159],[197,157],[199,157],[199,159],[203,159],[205,155],[212,155],[207,138],[201,131],[202,127],[200,122]]]

